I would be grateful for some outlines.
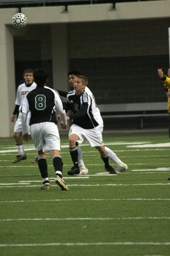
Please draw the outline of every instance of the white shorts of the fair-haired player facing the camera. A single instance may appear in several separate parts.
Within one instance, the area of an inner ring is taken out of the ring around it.
[[[100,132],[98,127],[93,129],[83,129],[76,124],[72,124],[70,127],[69,135],[76,134],[79,136],[79,140],[77,142],[81,144],[84,139],[86,139],[91,147],[103,146],[102,133]]]

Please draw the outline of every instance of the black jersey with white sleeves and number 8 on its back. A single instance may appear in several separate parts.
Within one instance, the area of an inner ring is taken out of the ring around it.
[[[27,93],[23,99],[21,112],[31,111],[29,125],[43,122],[57,124],[56,109],[63,111],[62,100],[56,90],[48,86],[39,86]]]

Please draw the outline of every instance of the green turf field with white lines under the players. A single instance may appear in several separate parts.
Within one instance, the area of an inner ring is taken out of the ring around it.
[[[50,190],[42,178],[32,141],[27,160],[12,163],[14,141],[0,141],[1,256],[170,255],[170,141],[168,135],[104,137],[128,165],[109,174],[95,148],[82,145],[87,176],[68,176],[72,166],[67,138],[61,139],[63,178]],[[115,165],[113,165],[116,167]]]

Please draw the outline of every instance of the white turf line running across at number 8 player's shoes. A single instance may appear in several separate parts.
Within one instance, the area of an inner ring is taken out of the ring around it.
[[[151,183],[151,184],[67,184],[68,187],[100,187],[100,186],[154,186],[154,185],[170,185],[170,183]],[[25,186],[3,186],[0,188],[14,188],[14,187],[39,187],[40,185],[25,185]],[[51,187],[56,187],[56,185],[50,185]]]

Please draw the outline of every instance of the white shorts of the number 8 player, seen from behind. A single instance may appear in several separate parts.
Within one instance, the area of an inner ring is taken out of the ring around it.
[[[37,151],[60,151],[60,136],[57,125],[52,122],[31,124],[31,138]]]

